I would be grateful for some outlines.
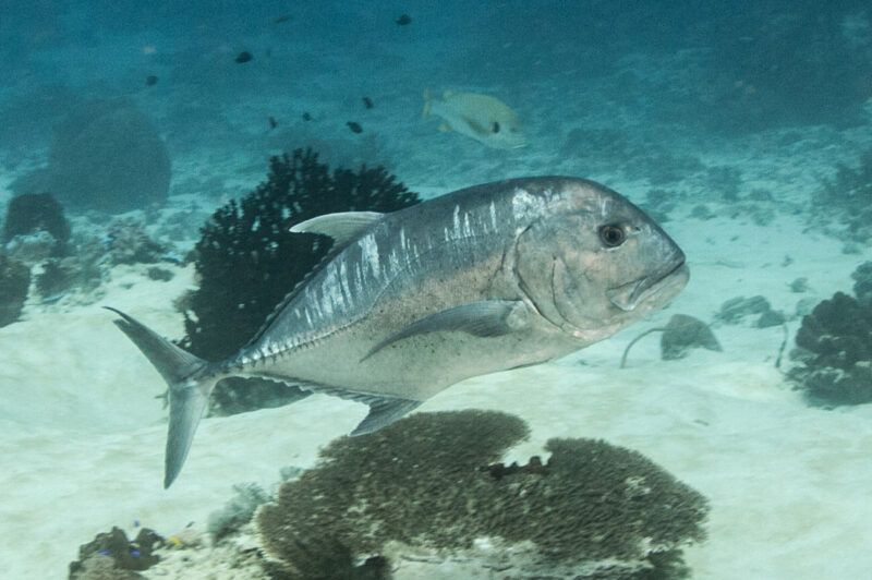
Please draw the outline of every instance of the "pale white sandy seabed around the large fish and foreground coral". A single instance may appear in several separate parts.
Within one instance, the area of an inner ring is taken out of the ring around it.
[[[693,351],[670,362],[659,360],[651,337],[633,349],[628,368],[617,368],[635,334],[674,313],[711,319],[725,300],[758,293],[792,312],[800,298],[849,290],[862,256],[843,255],[837,242],[803,234],[788,218],[766,228],[682,220],[669,230],[692,277],[667,311],[567,360],[457,385],[421,410],[476,407],[522,416],[533,438],[509,459],[538,454],[555,436],[598,437],[645,454],[711,499],[710,539],[687,551],[697,578],[864,577],[872,569],[872,406],[807,407],[774,368],[780,328],[718,326],[723,353]],[[795,262],[783,267],[785,254]],[[166,283],[129,269],[100,303],[179,336],[171,303],[190,274]],[[787,283],[799,276],[812,294],[790,292]],[[203,525],[233,483],[269,485],[283,466],[312,466],[319,446],[365,414],[362,406],[313,396],[207,419],[182,475],[165,492],[165,413],[153,398],[164,390],[160,377],[111,313],[56,310],[31,307],[29,319],[0,329],[5,578],[60,578],[77,546],[112,525],[133,532],[140,520],[165,535],[191,521]],[[791,336],[797,327],[790,324]]]

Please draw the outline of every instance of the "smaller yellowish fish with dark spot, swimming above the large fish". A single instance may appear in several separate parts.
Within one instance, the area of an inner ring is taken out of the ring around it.
[[[497,149],[526,146],[518,113],[497,98],[446,90],[441,100],[435,100],[427,89],[421,117],[426,119],[431,113],[443,118],[439,131],[455,131]]]

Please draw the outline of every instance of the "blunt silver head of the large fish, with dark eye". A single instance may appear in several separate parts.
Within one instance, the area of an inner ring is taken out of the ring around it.
[[[524,192],[535,207],[516,246],[518,285],[543,317],[592,343],[678,295],[685,254],[644,212],[591,181],[544,179]]]

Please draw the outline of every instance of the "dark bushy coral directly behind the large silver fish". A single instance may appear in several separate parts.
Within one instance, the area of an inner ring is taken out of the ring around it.
[[[327,255],[331,241],[291,233],[291,226],[336,212],[395,212],[419,203],[383,167],[330,168],[311,148],[272,157],[269,176],[249,195],[213,214],[197,242],[199,288],[184,299],[181,346],[220,360],[237,352],[277,304]],[[225,383],[233,385],[235,380]],[[283,385],[264,388],[287,390]],[[271,398],[249,385],[247,402],[219,386],[213,412],[232,413]],[[271,390],[270,390],[271,391]],[[286,401],[287,402],[287,401]],[[220,409],[218,409],[220,408]]]

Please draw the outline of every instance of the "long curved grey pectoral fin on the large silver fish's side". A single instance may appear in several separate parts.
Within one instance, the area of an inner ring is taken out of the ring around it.
[[[440,330],[468,333],[477,337],[506,335],[518,329],[518,323],[512,324],[509,317],[518,307],[523,307],[523,303],[520,300],[482,300],[434,312],[429,316],[415,321],[385,338],[373,347],[366,353],[366,357],[361,359],[361,362],[388,345],[415,335]]]

